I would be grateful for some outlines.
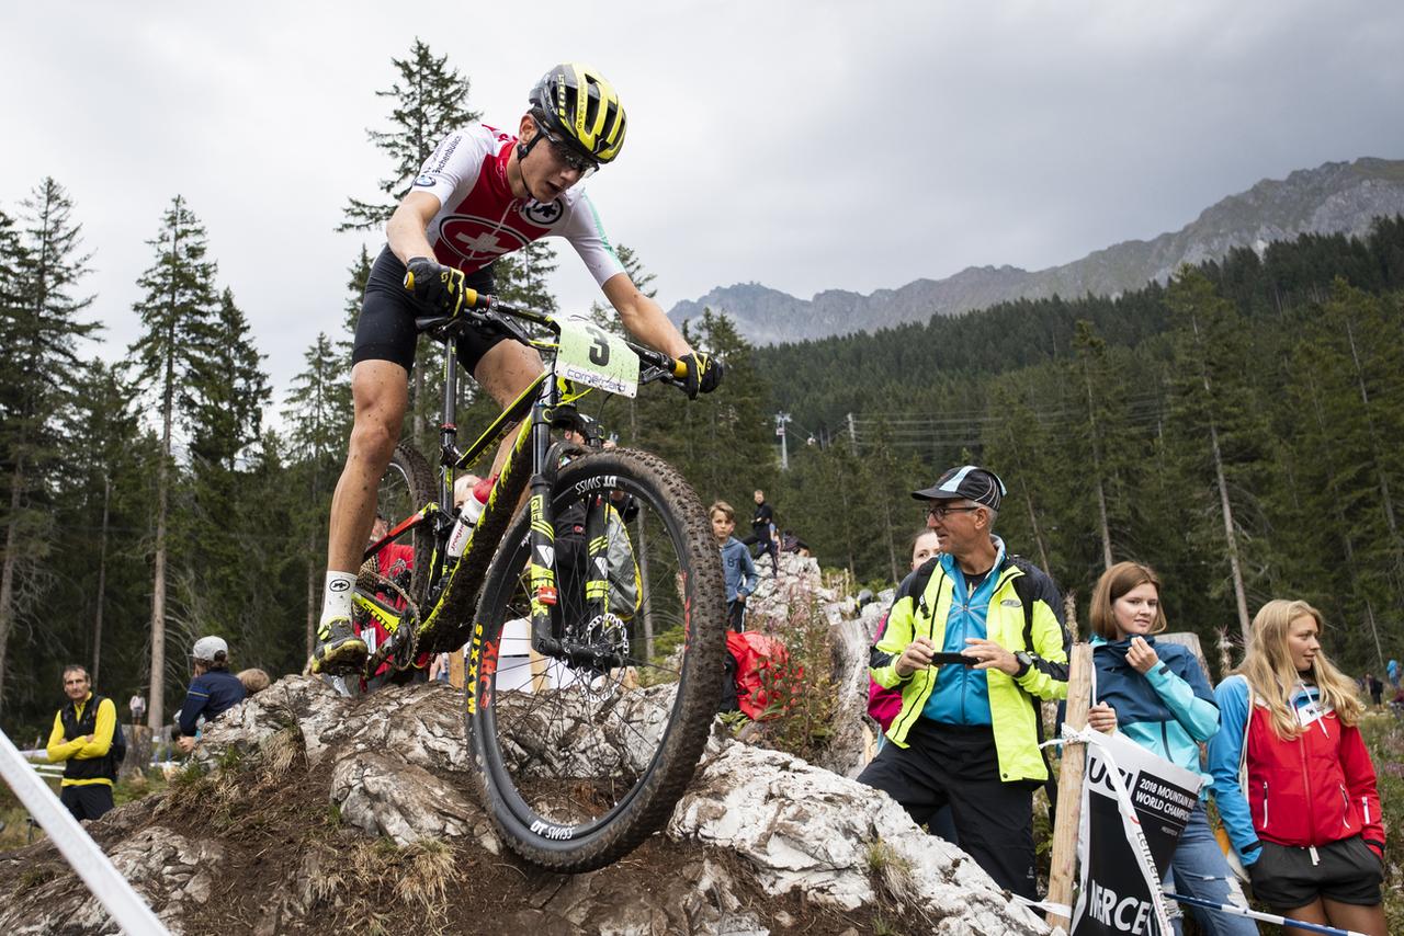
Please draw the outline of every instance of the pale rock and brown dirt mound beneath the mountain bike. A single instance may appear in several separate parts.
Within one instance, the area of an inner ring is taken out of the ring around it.
[[[866,681],[851,657],[866,647],[866,616],[827,591],[810,560],[786,557],[768,581],[753,613],[793,622],[817,609],[831,622],[820,627],[845,634],[834,641],[848,647],[835,654],[835,685],[851,697],[844,711],[861,713]],[[657,710],[649,693],[658,692],[668,689],[622,693],[621,704]],[[636,856],[574,877],[521,866],[473,798],[461,706],[441,685],[344,699],[286,676],[206,731],[198,763],[209,773],[90,829],[173,932],[211,932],[216,918],[258,933],[333,932],[414,900],[437,926],[484,933],[841,933],[842,921],[876,914],[934,933],[1047,932],[958,848],[841,776],[856,772],[861,744],[837,745],[834,772],[737,741],[720,723],[665,831]],[[583,755],[566,742],[562,711],[541,741],[566,765]],[[640,724],[614,721],[630,733]],[[637,741],[601,738],[611,758],[632,756]],[[456,883],[416,897],[411,885],[435,867]],[[484,880],[494,881],[490,922],[455,916],[468,911],[445,895]],[[0,856],[0,894],[6,932],[111,932],[46,845]]]

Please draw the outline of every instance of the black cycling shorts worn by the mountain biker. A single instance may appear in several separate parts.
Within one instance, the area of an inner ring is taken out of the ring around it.
[[[493,267],[468,274],[465,283],[477,292],[494,292]],[[404,264],[386,246],[375,258],[365,283],[361,317],[355,323],[355,342],[351,345],[351,363],[390,361],[413,370],[418,342],[414,317],[427,314],[430,310],[404,289]],[[500,331],[469,326],[456,344],[458,361],[465,370],[473,373],[483,355],[505,340]]]

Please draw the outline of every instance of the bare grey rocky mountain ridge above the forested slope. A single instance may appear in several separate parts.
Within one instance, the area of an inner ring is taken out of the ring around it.
[[[1119,295],[1153,279],[1165,282],[1181,264],[1217,260],[1237,247],[1261,254],[1272,241],[1303,233],[1362,236],[1380,215],[1404,215],[1404,160],[1360,157],[1259,180],[1205,208],[1179,230],[1125,240],[1045,269],[966,267],[943,279],[914,279],[868,295],[827,289],[813,299],[758,282],[734,283],[674,305],[668,319],[681,324],[706,307],[723,310],[758,345],[878,331],[1016,299]]]

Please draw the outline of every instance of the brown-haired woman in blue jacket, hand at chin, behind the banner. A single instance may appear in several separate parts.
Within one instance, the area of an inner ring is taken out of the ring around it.
[[[1186,647],[1157,644],[1165,630],[1160,580],[1137,563],[1118,563],[1102,573],[1092,592],[1092,702],[1088,724],[1098,731],[1122,731],[1127,738],[1192,773],[1202,775],[1199,745],[1219,731],[1219,706],[1209,679]],[[1209,828],[1205,800],[1213,779],[1203,776],[1199,805],[1179,834],[1165,884],[1178,894],[1212,904],[1243,904],[1234,880]],[[1191,908],[1209,936],[1254,936],[1257,923],[1219,911]],[[1175,933],[1182,921],[1174,916]]]

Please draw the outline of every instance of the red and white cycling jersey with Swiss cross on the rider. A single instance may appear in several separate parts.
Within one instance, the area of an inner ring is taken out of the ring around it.
[[[424,161],[410,191],[439,199],[427,232],[435,258],[470,274],[534,240],[556,236],[570,241],[595,282],[604,285],[622,274],[623,264],[583,191],[569,188],[549,203],[512,196],[507,159],[514,146],[511,133],[472,123],[449,133]]]

